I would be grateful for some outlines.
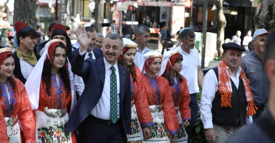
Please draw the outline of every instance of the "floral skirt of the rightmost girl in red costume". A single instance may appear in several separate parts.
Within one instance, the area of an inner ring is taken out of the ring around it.
[[[177,119],[179,123],[179,133],[176,134],[176,139],[172,141],[172,143],[187,143],[187,133],[185,132],[184,125],[181,119],[181,114],[177,112]]]

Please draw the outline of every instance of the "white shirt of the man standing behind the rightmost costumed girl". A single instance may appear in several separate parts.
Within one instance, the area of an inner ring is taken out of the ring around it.
[[[171,50],[179,51],[183,57],[182,69],[179,73],[186,78],[189,93],[193,94],[200,92],[198,86],[198,66],[201,65],[201,61],[198,50],[194,47],[194,49],[190,51],[190,54],[185,53],[180,46]]]

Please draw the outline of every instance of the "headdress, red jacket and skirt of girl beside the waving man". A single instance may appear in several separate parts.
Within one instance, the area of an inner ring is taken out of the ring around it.
[[[124,50],[122,54],[119,55],[119,58],[117,59],[117,61],[122,60],[123,55],[129,49],[136,50],[137,44],[127,38],[123,38],[123,47],[124,47]],[[131,134],[129,135],[128,142],[133,142],[133,141],[139,141],[143,139],[141,128],[152,126],[154,123],[153,123],[150,109],[148,108],[149,105],[148,105],[147,97],[145,95],[145,88],[142,82],[142,74],[137,66],[134,67],[135,73],[132,73],[130,68],[131,67],[129,67],[128,69],[130,71],[130,82],[131,82],[131,121],[132,121],[131,129],[135,129],[135,130],[131,130]],[[135,81],[133,79],[133,74],[136,74]]]

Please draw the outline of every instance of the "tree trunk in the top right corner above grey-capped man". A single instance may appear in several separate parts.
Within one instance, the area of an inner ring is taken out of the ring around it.
[[[257,29],[271,31],[275,27],[275,0],[262,0],[259,13],[255,17]]]

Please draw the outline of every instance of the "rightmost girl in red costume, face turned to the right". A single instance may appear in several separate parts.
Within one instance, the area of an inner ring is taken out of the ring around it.
[[[179,73],[182,68],[183,57],[179,51],[167,51],[164,53],[164,59],[160,75],[168,80],[171,87],[180,130],[172,143],[187,143],[187,134],[184,128],[190,125],[191,110],[189,108],[190,94],[187,80]]]

